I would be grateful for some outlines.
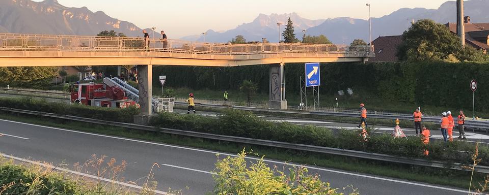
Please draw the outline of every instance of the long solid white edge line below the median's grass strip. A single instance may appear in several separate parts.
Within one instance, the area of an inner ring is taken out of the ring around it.
[[[205,152],[205,153],[211,153],[211,154],[223,154],[223,155],[234,156],[234,157],[237,156],[236,154],[229,154],[229,153],[216,152],[216,151],[210,151],[210,150],[203,150],[203,149],[197,149],[197,148],[187,148],[187,147],[182,147],[182,146],[175,146],[175,145],[168,145],[168,144],[160,144],[160,143],[154,143],[154,142],[148,142],[148,141],[141,141],[141,140],[134,140],[134,139],[128,139],[128,138],[120,138],[120,137],[114,137],[114,136],[106,136],[106,135],[92,134],[92,133],[86,133],[86,132],[78,132],[78,131],[73,131],[73,130],[68,130],[68,129],[63,129],[63,128],[49,127],[49,126],[43,126],[43,125],[37,125],[37,124],[29,124],[29,123],[24,123],[24,122],[17,122],[17,121],[3,120],[3,119],[0,119],[0,121],[13,122],[13,123],[18,123],[18,124],[38,126],[38,127],[50,128],[50,129],[57,129],[57,130],[60,130],[60,131],[65,131],[65,132],[72,132],[72,133],[78,133],[78,134],[93,135],[93,136],[99,136],[99,137],[104,137],[104,138],[113,138],[113,139],[119,139],[119,140],[126,140],[126,141],[132,141],[132,142],[139,142],[139,143],[145,143],[145,144],[153,144],[153,145],[158,145],[158,146],[165,146],[165,147],[171,147],[171,148],[184,149],[184,150],[192,150],[192,151],[198,151],[198,152]],[[256,159],[259,159],[259,158],[255,158],[255,157],[249,157],[249,156],[247,156],[247,158],[248,159],[255,159],[255,160]],[[308,169],[315,169],[315,170],[320,170],[320,171],[327,171],[327,172],[333,172],[333,173],[339,173],[339,174],[345,174],[345,175],[352,175],[352,176],[364,177],[364,178],[370,178],[370,179],[377,179],[377,180],[384,180],[384,181],[390,181],[390,182],[396,182],[396,183],[417,185],[417,186],[430,187],[430,188],[436,188],[436,189],[443,189],[443,190],[449,190],[449,191],[466,192],[464,190],[459,190],[459,189],[454,189],[454,188],[441,187],[441,186],[436,186],[436,185],[428,185],[428,184],[422,184],[422,183],[415,183],[415,182],[409,182],[409,181],[401,181],[401,180],[388,179],[388,178],[382,178],[382,177],[375,177],[375,176],[369,176],[369,175],[361,175],[361,174],[356,174],[356,173],[349,173],[349,172],[344,172],[344,171],[336,171],[336,170],[323,169],[323,168],[317,168],[317,167],[303,166],[303,165],[293,164],[293,163],[284,163],[282,161],[277,161],[277,160],[264,159],[264,161],[269,162],[269,163],[276,163],[276,164],[280,164],[280,165],[300,166],[300,167],[305,167],[305,168],[308,168]]]

